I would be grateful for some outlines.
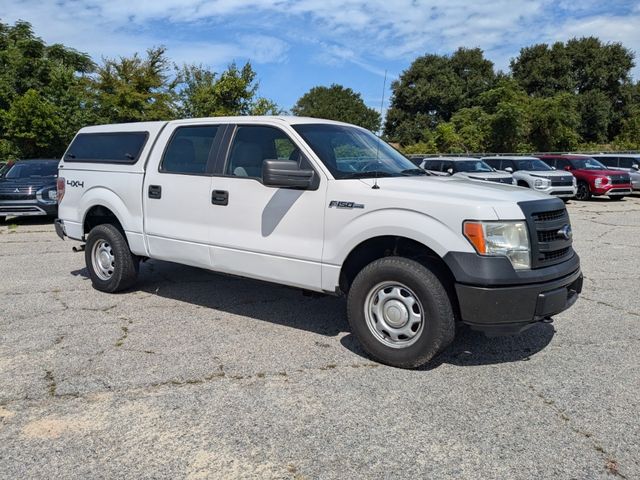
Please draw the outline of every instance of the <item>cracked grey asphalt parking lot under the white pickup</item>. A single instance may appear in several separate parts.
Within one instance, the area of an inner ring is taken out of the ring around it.
[[[343,299],[157,261],[103,294],[50,223],[1,223],[0,478],[640,478],[640,197],[569,209],[578,303],[420,371]]]

